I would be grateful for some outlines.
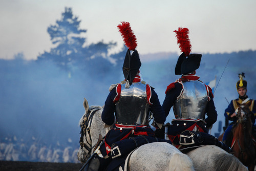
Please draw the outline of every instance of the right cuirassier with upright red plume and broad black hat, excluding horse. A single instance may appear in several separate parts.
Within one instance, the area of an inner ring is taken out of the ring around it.
[[[201,54],[190,54],[191,45],[188,38],[188,29],[179,28],[174,31],[183,52],[177,61],[175,74],[182,75],[180,79],[169,84],[165,91],[163,110],[169,114],[173,107],[175,119],[168,127],[168,138],[180,149],[195,145],[217,145],[229,152],[214,136],[208,134],[217,120],[214,95],[209,86],[199,80],[195,75],[200,66]],[[207,118],[205,118],[207,115]]]

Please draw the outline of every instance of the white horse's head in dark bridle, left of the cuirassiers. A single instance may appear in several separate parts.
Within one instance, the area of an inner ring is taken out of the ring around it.
[[[99,134],[105,136],[109,128],[104,127],[104,122],[101,120],[102,106],[89,106],[87,99],[84,98],[83,107],[85,112],[79,121],[81,137],[77,158],[85,163],[93,153]]]

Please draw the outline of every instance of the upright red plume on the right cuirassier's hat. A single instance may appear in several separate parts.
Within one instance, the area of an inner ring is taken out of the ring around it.
[[[186,56],[189,56],[191,51],[191,44],[188,38],[189,30],[187,28],[179,27],[179,30],[175,30],[174,32],[176,33],[177,44],[180,44],[179,48],[181,52],[184,52]]]

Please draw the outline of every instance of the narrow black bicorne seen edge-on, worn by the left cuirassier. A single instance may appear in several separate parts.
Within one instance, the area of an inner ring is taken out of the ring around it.
[[[134,50],[132,55],[128,49],[123,62],[123,75],[125,80],[129,81],[130,86],[137,75],[141,66],[139,53],[137,50]]]

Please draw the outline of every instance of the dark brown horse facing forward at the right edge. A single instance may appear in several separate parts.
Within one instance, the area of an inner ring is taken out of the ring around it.
[[[252,140],[252,122],[249,106],[244,103],[238,108],[237,122],[232,129],[232,144],[234,156],[236,156],[248,169],[254,170],[255,146]],[[224,134],[224,133],[223,133]],[[223,135],[219,137],[222,140]]]

